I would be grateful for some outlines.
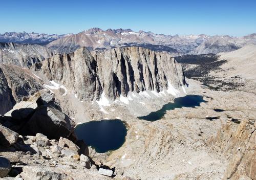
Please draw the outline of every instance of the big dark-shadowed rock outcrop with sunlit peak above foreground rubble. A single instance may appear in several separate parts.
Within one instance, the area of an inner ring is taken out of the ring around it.
[[[44,90],[14,106],[1,118],[4,126],[23,135],[42,133],[49,139],[73,138],[75,123],[62,113],[54,97]]]

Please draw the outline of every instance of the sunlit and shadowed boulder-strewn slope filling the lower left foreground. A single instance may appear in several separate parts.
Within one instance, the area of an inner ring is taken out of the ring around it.
[[[89,157],[74,122],[44,90],[0,117],[1,179],[131,179]]]

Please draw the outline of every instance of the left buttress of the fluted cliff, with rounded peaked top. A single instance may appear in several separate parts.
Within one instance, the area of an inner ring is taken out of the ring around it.
[[[93,99],[102,92],[97,62],[86,48],[45,60],[42,71],[50,80],[70,87],[80,99]]]

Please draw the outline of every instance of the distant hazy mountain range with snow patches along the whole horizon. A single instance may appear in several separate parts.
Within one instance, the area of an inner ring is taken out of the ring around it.
[[[256,44],[256,34],[243,37],[201,35],[164,35],[152,32],[134,32],[131,29],[92,28],[77,34],[47,35],[37,33],[0,34],[0,42],[36,43],[46,45],[59,53],[70,53],[80,47],[90,51],[103,51],[117,47],[143,47],[154,51],[167,51],[174,56],[218,54],[230,52],[247,44]]]

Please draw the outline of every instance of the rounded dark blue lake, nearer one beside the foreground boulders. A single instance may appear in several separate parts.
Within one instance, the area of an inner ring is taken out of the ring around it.
[[[121,120],[115,119],[79,124],[75,132],[79,140],[92,146],[96,152],[107,152],[123,145],[127,129]]]

